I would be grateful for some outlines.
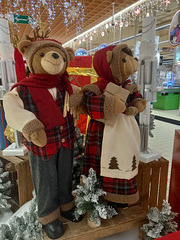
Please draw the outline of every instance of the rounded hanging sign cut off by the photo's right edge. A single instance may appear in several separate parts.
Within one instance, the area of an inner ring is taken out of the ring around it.
[[[174,47],[180,44],[180,9],[174,14],[171,21],[169,43]]]

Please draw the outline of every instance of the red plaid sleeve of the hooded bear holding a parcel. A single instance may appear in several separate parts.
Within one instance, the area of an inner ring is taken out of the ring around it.
[[[93,92],[87,91],[84,93],[84,104],[88,115],[92,119],[104,118],[104,100],[105,96],[96,96]]]

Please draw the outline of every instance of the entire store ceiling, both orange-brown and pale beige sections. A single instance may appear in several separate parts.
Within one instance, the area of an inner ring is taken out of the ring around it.
[[[1,13],[6,13],[9,2],[13,2],[12,0],[6,0],[1,1]],[[41,0],[42,1],[42,0]],[[62,2],[59,0],[51,0],[52,2]],[[162,0],[163,1],[163,0]],[[18,0],[16,0],[18,2]],[[27,11],[29,0],[20,0],[19,2],[24,4],[24,11],[21,11],[22,15],[29,15]],[[39,2],[39,0],[33,0],[33,2],[36,4],[36,2]],[[132,5],[133,3],[136,3],[137,0],[82,0],[80,2],[83,2],[84,4],[84,23],[83,23],[83,30],[82,32],[90,29],[93,26],[96,26],[98,23],[101,23],[103,20],[106,20],[107,18],[112,16],[112,3],[115,2],[115,13],[125,9],[126,7]],[[177,0],[171,0],[171,4],[169,5],[167,11],[162,12],[159,11],[157,13],[157,27],[169,24],[171,22],[172,16],[174,13],[179,9],[179,5],[177,3]],[[17,6],[17,9],[21,8],[21,5]],[[63,9],[62,9],[63,10]],[[51,32],[49,34],[50,38],[54,38],[62,43],[65,43],[72,38],[76,37],[76,25],[77,22],[74,21],[69,24],[68,31],[66,29],[66,25],[64,23],[64,15],[62,11],[56,6],[56,18],[53,21],[51,25]],[[47,12],[44,10],[43,7],[41,7],[41,14],[40,17],[42,22],[48,22],[48,15]],[[32,27],[30,25],[25,24],[19,24],[19,30],[18,33],[19,39],[21,40],[25,35],[29,35],[32,37],[33,31]],[[138,27],[137,27],[137,33],[142,31],[142,20],[139,20]],[[129,26],[127,28],[123,28],[122,38],[127,38],[129,36],[134,35],[134,26]],[[172,51],[171,52],[163,52],[164,47],[170,47],[168,43],[168,28],[164,29],[162,31],[157,32],[157,35],[160,36],[159,42],[163,42],[159,45],[161,53],[165,56],[173,56]],[[115,37],[114,37],[115,36]],[[111,42],[118,41],[120,39],[120,33],[119,33],[119,26],[115,29],[115,34],[113,32],[113,29],[111,31],[105,33],[104,37],[101,36],[101,34],[97,34],[97,36],[93,39],[91,42],[91,46],[89,46],[87,43],[83,43],[81,45],[78,44],[78,41],[74,42],[72,44],[72,47],[74,50],[76,50],[79,47],[84,47],[87,50],[93,49],[98,47],[101,43],[105,42],[107,44],[110,44]],[[138,41],[141,40],[141,37],[137,38]],[[134,48],[134,39],[126,42],[132,49]],[[168,55],[171,54],[171,55]]]

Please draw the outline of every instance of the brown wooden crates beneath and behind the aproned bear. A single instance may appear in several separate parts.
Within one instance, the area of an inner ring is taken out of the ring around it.
[[[147,212],[151,207],[162,209],[163,199],[166,198],[168,164],[169,162],[162,157],[149,163],[140,162],[137,175],[140,198],[136,205],[119,209],[117,216],[103,220],[101,226],[94,229],[87,225],[87,217],[79,223],[66,221],[65,234],[59,240],[96,240],[142,227],[148,222]],[[49,240],[45,234],[44,240]]]

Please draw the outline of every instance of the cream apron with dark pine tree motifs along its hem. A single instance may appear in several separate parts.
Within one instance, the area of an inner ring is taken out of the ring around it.
[[[105,124],[101,176],[131,179],[138,173],[140,131],[134,116],[118,114],[113,125]]]

